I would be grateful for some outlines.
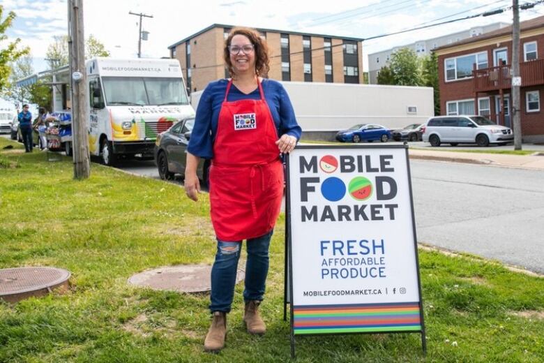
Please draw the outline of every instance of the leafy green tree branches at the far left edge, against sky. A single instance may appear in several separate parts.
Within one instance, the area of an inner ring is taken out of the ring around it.
[[[7,46],[4,47],[3,42],[8,40],[8,36],[4,33],[6,32],[6,29],[11,27],[11,24],[15,19],[15,13],[10,11],[8,16],[6,16],[6,19],[2,19],[3,6],[0,5],[0,91],[3,91],[8,85],[9,76],[11,74],[10,64],[29,52],[28,47],[22,49],[17,48],[17,45],[19,45],[21,41],[20,38],[16,38],[13,42],[8,42]]]

